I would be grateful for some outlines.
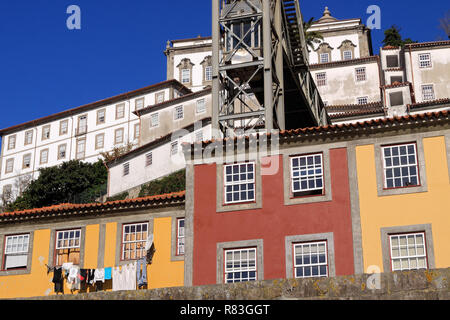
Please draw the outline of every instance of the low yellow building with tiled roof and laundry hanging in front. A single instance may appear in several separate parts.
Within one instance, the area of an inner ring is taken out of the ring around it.
[[[100,269],[129,264],[145,256],[150,234],[156,252],[143,289],[182,286],[184,201],[185,193],[179,192],[0,214],[0,299],[55,294],[47,266],[72,262],[81,269]],[[103,289],[112,290],[112,281]],[[89,286],[73,293],[93,290]],[[70,293],[64,284],[64,294]]]

